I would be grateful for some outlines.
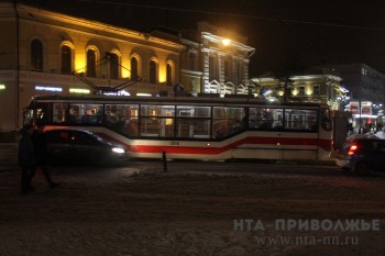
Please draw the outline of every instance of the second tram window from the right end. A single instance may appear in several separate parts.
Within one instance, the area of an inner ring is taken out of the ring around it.
[[[249,129],[283,129],[283,109],[249,108]]]

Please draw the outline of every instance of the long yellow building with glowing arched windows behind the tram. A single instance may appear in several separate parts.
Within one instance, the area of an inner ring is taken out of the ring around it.
[[[180,43],[13,3],[0,3],[0,132],[35,94],[154,96],[179,81]]]

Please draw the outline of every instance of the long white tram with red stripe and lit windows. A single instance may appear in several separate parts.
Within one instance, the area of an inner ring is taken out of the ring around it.
[[[254,98],[36,96],[23,122],[88,130],[144,158],[327,159],[333,143],[328,105]]]

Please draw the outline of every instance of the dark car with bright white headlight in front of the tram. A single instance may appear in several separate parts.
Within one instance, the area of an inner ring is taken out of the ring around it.
[[[129,159],[124,145],[101,138],[84,130],[45,132],[50,159],[54,163],[118,164]]]

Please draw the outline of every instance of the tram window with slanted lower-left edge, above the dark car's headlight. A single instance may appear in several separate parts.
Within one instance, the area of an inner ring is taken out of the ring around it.
[[[119,133],[138,136],[138,104],[106,104],[105,124]]]

